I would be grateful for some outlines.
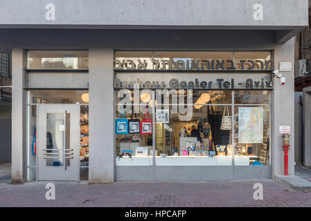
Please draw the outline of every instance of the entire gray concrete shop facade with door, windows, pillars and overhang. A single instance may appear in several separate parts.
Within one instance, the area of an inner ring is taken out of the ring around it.
[[[279,129],[294,133],[294,35],[308,1],[3,6],[12,182],[283,174]]]

